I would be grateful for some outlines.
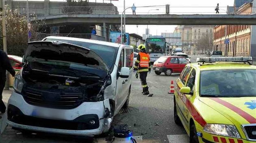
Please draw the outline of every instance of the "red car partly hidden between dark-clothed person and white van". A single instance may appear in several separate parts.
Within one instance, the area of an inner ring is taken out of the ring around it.
[[[10,60],[11,65],[13,66],[13,69],[15,70],[16,74],[17,72],[22,69],[22,57],[15,56],[15,55],[8,55],[8,58]],[[13,76],[9,74],[9,86],[13,86]]]

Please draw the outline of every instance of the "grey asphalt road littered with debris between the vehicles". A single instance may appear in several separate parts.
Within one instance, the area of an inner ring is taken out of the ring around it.
[[[191,56],[191,62],[195,62],[196,57],[199,56]],[[149,90],[150,93],[154,94],[153,97],[141,94],[140,80],[133,76],[128,112],[117,114],[113,126],[127,124],[128,129],[134,132],[134,136],[138,138],[139,143],[187,143],[188,135],[183,126],[177,126],[174,123],[174,97],[167,94],[171,80],[176,80],[179,75],[165,76],[163,73],[156,75],[154,71],[148,74]],[[96,137],[88,140],[80,137],[52,134],[25,136],[10,127],[7,127],[0,135],[1,143],[107,143],[105,140],[106,137]]]

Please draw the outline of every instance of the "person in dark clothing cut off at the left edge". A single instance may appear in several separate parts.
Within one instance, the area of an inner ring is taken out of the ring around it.
[[[15,76],[15,71],[11,66],[7,54],[3,50],[0,50],[0,112],[2,114],[6,110],[4,102],[2,101],[2,92],[6,82],[6,71],[9,71],[13,77]]]

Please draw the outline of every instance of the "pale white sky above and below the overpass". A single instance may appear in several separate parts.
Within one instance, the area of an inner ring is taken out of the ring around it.
[[[95,0],[89,0],[89,2],[95,2]],[[97,2],[103,2],[103,0],[97,0]],[[104,0],[106,3],[110,3],[110,0]],[[118,7],[118,11],[121,12],[124,9],[124,0],[113,1],[112,3]],[[132,6],[153,6],[153,5],[165,5],[170,4],[170,13],[171,14],[214,14],[215,6],[219,3],[220,13],[225,14],[226,7],[233,6],[234,0],[125,0],[126,7]],[[185,7],[187,6],[187,7]],[[188,7],[189,6],[189,7]],[[200,6],[195,7],[195,6]],[[164,6],[157,6],[156,8],[137,8],[137,14],[165,14]],[[158,11],[155,9],[159,9]],[[126,10],[126,14],[132,14],[131,9]],[[152,35],[161,35],[161,33],[174,32],[174,29],[177,25],[148,25],[150,29],[150,34]],[[145,29],[147,25],[126,25],[127,33],[136,33],[142,36],[145,34]]]

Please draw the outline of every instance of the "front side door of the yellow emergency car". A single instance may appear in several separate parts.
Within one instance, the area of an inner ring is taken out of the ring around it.
[[[189,78],[189,74],[191,73],[191,69],[192,69],[192,67],[187,67],[187,69],[184,71],[184,74],[181,78],[182,87],[186,86],[188,78]],[[178,93],[179,93],[179,100],[178,100],[177,104],[179,107],[179,112],[181,114],[180,120],[182,120],[182,122],[185,125],[184,127],[186,128],[186,130],[188,130],[189,128],[187,127],[187,124],[189,124],[189,120],[188,120],[189,113],[188,113],[188,109],[186,106],[187,95],[180,93],[180,92],[178,92]]]

